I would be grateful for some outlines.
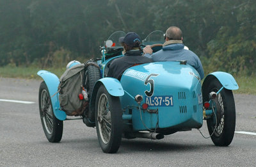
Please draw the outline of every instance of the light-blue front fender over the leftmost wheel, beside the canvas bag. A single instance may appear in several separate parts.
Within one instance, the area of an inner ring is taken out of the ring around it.
[[[67,115],[64,111],[61,111],[59,109],[60,102],[58,100],[58,93],[56,93],[58,91],[58,85],[60,84],[59,78],[55,74],[46,70],[38,71],[37,75],[42,77],[42,79],[44,79],[45,81],[45,84],[47,85],[51,97],[52,110],[54,115],[56,116],[56,118],[58,118],[58,120],[65,120],[67,118]]]

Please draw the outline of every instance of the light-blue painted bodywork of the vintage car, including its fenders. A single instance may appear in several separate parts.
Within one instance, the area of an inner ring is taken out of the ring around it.
[[[132,131],[156,128],[186,131],[202,127],[202,84],[195,68],[179,61],[154,62],[128,68],[120,81],[107,77],[109,63],[122,56],[107,58],[103,52],[102,59],[95,61],[99,65],[101,79],[93,88],[90,112],[95,110],[97,90],[103,84],[110,95],[120,97],[124,123],[128,121]],[[45,70],[40,70],[38,76],[47,84],[54,115],[59,120],[65,120],[67,115],[60,110],[56,93],[60,83],[58,77]],[[213,72],[205,77],[204,82],[212,76],[220,81],[223,88],[238,89],[234,77],[226,72]],[[136,95],[143,97],[139,104],[134,99]],[[143,109],[143,105],[147,109]]]

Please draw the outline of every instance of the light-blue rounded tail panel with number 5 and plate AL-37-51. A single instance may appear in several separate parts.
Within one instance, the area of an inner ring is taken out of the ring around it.
[[[124,72],[121,83],[122,107],[124,114],[132,114],[134,131],[202,126],[201,82],[193,67],[170,61],[138,65]],[[136,95],[143,96],[141,104],[148,104],[150,113],[138,108]]]

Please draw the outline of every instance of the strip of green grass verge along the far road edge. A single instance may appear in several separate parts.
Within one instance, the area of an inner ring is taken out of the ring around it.
[[[26,79],[41,79],[38,77],[36,73],[42,70],[39,67],[0,67],[0,77],[19,77]],[[64,68],[45,68],[44,70],[50,71],[56,76],[60,77],[63,72],[65,72]],[[239,90],[234,90],[234,93],[244,93],[256,95],[256,76],[234,76],[237,84],[239,85]]]

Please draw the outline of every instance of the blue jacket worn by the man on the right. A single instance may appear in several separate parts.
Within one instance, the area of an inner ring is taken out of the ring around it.
[[[199,73],[201,79],[204,78],[204,69],[198,56],[192,51],[184,49],[184,44],[170,44],[163,47],[154,54],[145,54],[153,61],[180,61],[186,60],[189,65],[194,67]]]

